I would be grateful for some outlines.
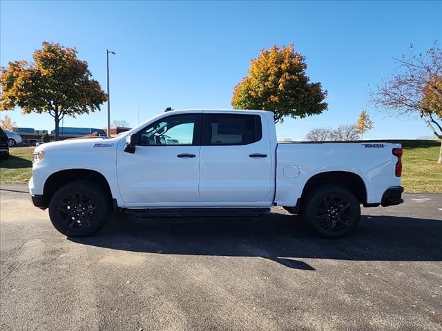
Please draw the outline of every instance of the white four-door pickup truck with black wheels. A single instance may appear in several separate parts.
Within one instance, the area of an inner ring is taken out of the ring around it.
[[[361,207],[402,203],[401,145],[277,143],[273,113],[172,110],[111,139],[38,146],[29,190],[70,237],[112,212],[258,216],[282,206],[320,236],[352,232]]]

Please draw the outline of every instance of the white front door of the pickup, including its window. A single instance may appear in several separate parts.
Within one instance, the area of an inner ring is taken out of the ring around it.
[[[117,175],[126,207],[198,205],[200,113],[173,114],[138,132],[135,153],[119,146]]]

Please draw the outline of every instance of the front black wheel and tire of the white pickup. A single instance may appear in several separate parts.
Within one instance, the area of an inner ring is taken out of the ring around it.
[[[52,225],[68,237],[90,236],[111,217],[111,197],[96,183],[68,183],[50,200],[49,217]]]

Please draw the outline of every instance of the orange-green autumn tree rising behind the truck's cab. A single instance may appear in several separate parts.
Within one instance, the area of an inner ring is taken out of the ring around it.
[[[305,70],[305,57],[294,45],[273,46],[261,50],[251,60],[249,76],[233,89],[231,105],[235,109],[272,110],[275,121],[284,117],[303,118],[327,109],[327,91],[320,83],[311,83]]]

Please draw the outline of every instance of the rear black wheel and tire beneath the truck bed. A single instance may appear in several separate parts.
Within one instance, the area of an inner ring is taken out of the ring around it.
[[[311,191],[303,203],[302,218],[324,238],[340,238],[352,232],[361,219],[361,206],[352,192],[338,185]]]

